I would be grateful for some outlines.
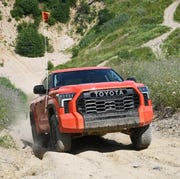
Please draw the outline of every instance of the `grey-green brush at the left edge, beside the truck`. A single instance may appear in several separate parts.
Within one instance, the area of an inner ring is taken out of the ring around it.
[[[15,122],[19,114],[25,115],[26,108],[26,95],[8,79],[0,77],[0,131]],[[13,137],[7,131],[0,134],[0,146],[16,147]]]

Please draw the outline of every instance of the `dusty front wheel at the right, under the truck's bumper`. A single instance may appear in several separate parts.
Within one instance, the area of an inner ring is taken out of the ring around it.
[[[137,150],[148,148],[151,143],[151,125],[132,129],[130,139]]]

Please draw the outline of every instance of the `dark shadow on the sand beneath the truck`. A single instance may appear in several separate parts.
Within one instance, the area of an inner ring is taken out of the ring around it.
[[[32,144],[23,139],[21,139],[21,141],[24,144],[23,148],[26,148],[27,146],[31,147],[34,155],[39,159],[42,159],[46,152],[51,151],[48,147],[43,148],[38,144]],[[101,136],[84,136],[72,140],[71,151],[68,153],[76,155],[85,151],[106,153],[117,150],[133,150],[133,146],[131,144],[118,143],[115,140],[104,139]]]

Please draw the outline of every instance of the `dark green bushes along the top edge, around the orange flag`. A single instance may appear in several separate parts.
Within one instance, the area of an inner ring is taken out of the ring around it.
[[[23,16],[33,15],[37,21],[41,18],[42,11],[39,9],[39,3],[42,10],[49,11],[51,14],[48,24],[54,25],[56,22],[66,23],[69,20],[70,8],[75,6],[76,0],[16,0],[11,16],[19,20]]]

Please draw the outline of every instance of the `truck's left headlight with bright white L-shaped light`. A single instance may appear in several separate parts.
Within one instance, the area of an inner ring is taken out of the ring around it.
[[[65,103],[71,101],[75,96],[75,93],[65,93],[65,94],[57,94],[56,95],[59,101],[59,106],[64,107]]]

